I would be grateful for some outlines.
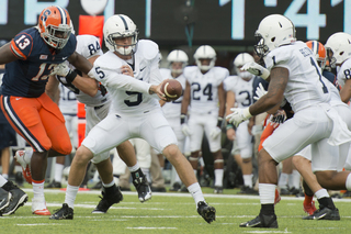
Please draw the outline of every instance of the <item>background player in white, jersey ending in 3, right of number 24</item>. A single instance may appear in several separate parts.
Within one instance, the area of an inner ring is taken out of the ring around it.
[[[253,103],[253,78],[249,71],[241,71],[240,68],[250,62],[254,62],[253,57],[248,53],[240,53],[234,59],[234,67],[237,76],[229,76],[224,80],[224,87],[227,91],[226,114],[230,113],[230,108],[250,107]],[[249,120],[242,122],[236,130],[233,124],[227,124],[227,137],[233,142],[231,155],[234,155],[237,164],[242,171],[244,187],[239,193],[257,194],[252,189],[252,135],[249,132]]]

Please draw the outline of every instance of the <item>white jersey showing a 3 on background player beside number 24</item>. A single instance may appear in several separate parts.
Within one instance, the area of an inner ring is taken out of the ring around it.
[[[224,80],[225,90],[235,93],[235,102],[238,108],[247,108],[253,103],[252,82],[253,78],[246,81],[239,76],[229,76]]]

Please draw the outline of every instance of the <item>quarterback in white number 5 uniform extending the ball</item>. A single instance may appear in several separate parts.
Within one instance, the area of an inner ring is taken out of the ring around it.
[[[103,33],[109,52],[94,62],[94,68],[97,79],[107,88],[113,101],[109,115],[89,132],[82,146],[77,149],[71,166],[75,171],[71,169],[69,174],[69,186],[71,182],[79,186],[83,179],[86,159],[110,151],[126,140],[140,137],[162,152],[176,167],[195,200],[197,212],[211,223],[215,220],[215,209],[205,203],[200,185],[189,161],[179,151],[177,137],[157,99],[166,100],[160,90],[162,77],[158,68],[158,45],[147,40],[138,42],[136,25],[123,14],[109,18]],[[152,93],[157,96],[151,96]],[[112,176],[112,171],[110,175]],[[138,177],[133,178],[134,183],[138,180]],[[73,196],[76,197],[77,192]],[[70,204],[63,204],[56,213],[58,219],[65,219],[67,213],[72,213],[73,200],[69,200],[71,199],[66,193],[65,201]]]

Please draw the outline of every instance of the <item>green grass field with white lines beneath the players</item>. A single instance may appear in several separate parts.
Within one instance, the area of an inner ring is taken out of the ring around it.
[[[242,229],[241,222],[253,219],[260,210],[258,196],[236,196],[238,191],[212,194],[204,188],[206,201],[217,210],[217,220],[207,224],[196,212],[188,193],[154,193],[152,199],[140,203],[136,192],[123,192],[124,200],[106,214],[91,214],[100,201],[99,191],[79,192],[75,219],[52,221],[48,216],[31,213],[32,189],[25,189],[29,202],[15,214],[0,218],[0,233],[351,233],[351,199],[335,199],[341,221],[305,221],[302,198],[283,197],[275,207],[279,229]],[[45,190],[50,212],[61,207],[65,192]]]

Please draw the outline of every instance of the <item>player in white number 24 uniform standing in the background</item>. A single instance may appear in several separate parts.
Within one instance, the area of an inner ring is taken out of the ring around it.
[[[190,137],[190,161],[195,174],[203,135],[206,134],[211,153],[214,156],[214,192],[222,193],[224,160],[220,151],[220,126],[225,112],[223,81],[228,77],[229,71],[226,68],[214,66],[216,52],[210,45],[200,46],[194,58],[197,66],[185,67],[183,73],[186,86],[181,110],[182,131]],[[189,121],[186,124],[184,119],[188,111]]]

